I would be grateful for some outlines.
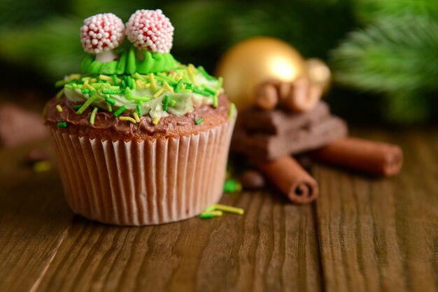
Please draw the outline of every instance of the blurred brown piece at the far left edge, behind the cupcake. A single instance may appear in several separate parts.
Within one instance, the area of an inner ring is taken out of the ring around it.
[[[43,118],[12,104],[0,105],[0,147],[14,147],[46,135]]]

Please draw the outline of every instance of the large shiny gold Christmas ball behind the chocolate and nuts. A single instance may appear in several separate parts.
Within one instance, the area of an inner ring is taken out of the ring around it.
[[[306,72],[301,54],[292,45],[276,38],[256,37],[237,43],[225,52],[218,64],[218,76],[238,109],[255,101],[255,89],[268,80],[293,81]]]

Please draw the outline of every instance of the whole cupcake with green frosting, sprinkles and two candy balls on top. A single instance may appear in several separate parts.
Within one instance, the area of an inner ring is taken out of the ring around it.
[[[45,108],[64,194],[76,214],[141,226],[194,217],[222,196],[236,110],[221,78],[170,54],[161,10],[80,29],[82,73]],[[127,40],[125,40],[127,38]]]

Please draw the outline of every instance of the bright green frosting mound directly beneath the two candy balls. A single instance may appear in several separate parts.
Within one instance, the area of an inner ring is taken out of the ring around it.
[[[119,56],[118,60],[101,63],[93,54],[88,54],[80,64],[80,69],[85,74],[93,75],[148,74],[171,71],[178,64],[170,53],[136,52],[134,48],[122,51]]]

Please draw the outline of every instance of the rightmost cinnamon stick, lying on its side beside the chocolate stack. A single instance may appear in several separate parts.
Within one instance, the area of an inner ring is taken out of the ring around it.
[[[372,175],[395,175],[403,164],[403,152],[399,146],[358,138],[334,140],[310,155],[316,161]]]

